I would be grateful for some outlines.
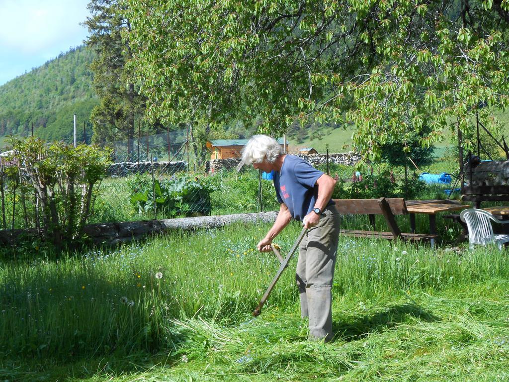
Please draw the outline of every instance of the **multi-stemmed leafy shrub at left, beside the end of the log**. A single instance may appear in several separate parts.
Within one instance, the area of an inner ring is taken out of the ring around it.
[[[56,248],[67,246],[82,237],[108,158],[109,151],[97,146],[14,140],[7,185],[13,210],[19,199],[25,227],[38,227]]]

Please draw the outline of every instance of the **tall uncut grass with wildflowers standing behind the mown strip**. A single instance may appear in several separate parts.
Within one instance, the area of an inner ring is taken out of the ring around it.
[[[254,251],[267,228],[235,225],[159,237],[113,252],[75,254],[58,262],[2,264],[0,352],[56,359],[125,356],[174,346],[181,340],[177,321],[239,324],[248,319],[278,266],[272,254]],[[292,225],[278,237],[283,252],[299,230]],[[468,288],[508,276],[507,256],[492,248],[457,253],[342,237],[333,295],[341,299],[354,294],[367,302]],[[295,312],[297,302],[294,275],[288,270],[268,309]]]

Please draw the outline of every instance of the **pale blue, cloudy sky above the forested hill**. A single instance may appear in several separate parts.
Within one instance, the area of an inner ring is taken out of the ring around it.
[[[0,86],[83,44],[89,0],[0,0]]]

